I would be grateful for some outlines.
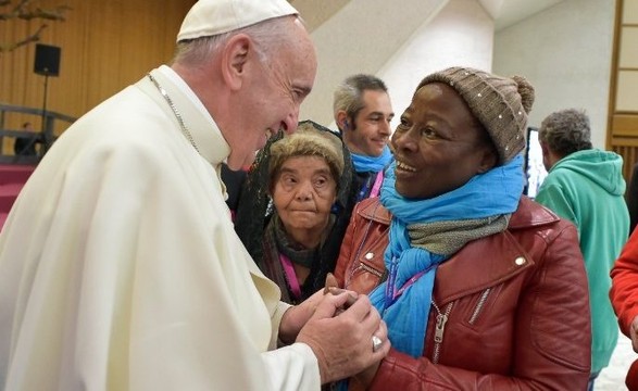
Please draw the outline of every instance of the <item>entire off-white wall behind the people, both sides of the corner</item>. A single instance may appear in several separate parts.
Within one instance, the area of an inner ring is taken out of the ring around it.
[[[312,1],[292,1],[302,16],[311,10],[308,3]],[[593,144],[605,148],[615,1],[547,2],[547,9],[504,26],[484,3],[493,2],[430,0],[389,9],[385,1],[353,0],[316,27],[312,20],[320,72],[301,118],[336,128],[331,93],[343,78],[363,72],[388,85],[396,127],[425,75],[468,65],[526,76],[537,91],[531,126],[556,110],[585,109]],[[387,28],[380,28],[379,18]]]

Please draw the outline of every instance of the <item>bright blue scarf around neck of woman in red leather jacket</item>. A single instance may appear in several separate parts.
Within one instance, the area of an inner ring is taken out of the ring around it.
[[[386,171],[381,204],[392,213],[384,254],[388,279],[371,294],[388,326],[392,346],[414,357],[423,355],[437,266],[447,256],[410,243],[406,227],[486,218],[513,213],[523,192],[523,156],[470,179],[462,187],[428,200],[408,200],[395,189],[395,163]],[[480,200],[480,202],[477,202]]]

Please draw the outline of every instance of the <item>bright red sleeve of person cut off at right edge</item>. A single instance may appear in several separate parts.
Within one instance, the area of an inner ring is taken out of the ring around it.
[[[610,299],[618,316],[621,330],[629,336],[638,316],[638,231],[634,231],[611,272]]]

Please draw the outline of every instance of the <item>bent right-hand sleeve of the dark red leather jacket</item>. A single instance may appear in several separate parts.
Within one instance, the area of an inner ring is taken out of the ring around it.
[[[513,308],[511,374],[481,374],[391,351],[371,390],[585,390],[590,369],[587,277],[573,225],[548,243]],[[439,281],[440,282],[440,281]],[[429,331],[428,331],[429,333]],[[467,352],[468,355],[472,352]]]

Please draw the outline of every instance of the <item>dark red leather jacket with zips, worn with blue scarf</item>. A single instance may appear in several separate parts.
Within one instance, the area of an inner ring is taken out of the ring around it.
[[[390,214],[356,205],[336,276],[367,293],[383,278]],[[425,354],[396,350],[372,390],[585,390],[587,277],[576,228],[523,198],[508,229],[467,243],[437,270]],[[447,321],[441,315],[447,315]]]

